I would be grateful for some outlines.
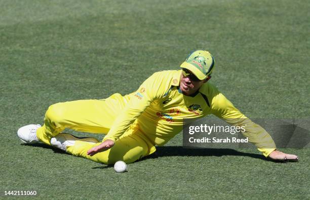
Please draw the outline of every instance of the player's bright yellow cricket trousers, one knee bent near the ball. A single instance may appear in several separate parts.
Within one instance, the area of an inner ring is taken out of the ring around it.
[[[46,112],[44,125],[37,129],[37,137],[51,145],[51,138],[65,128],[106,134],[128,101],[128,95],[122,96],[116,93],[101,100],[90,99],[54,104]],[[115,142],[112,148],[92,157],[88,156],[87,151],[98,144],[77,140],[73,146],[67,147],[66,152],[104,164],[114,164],[117,161],[132,163],[150,154],[149,141],[134,125]]]

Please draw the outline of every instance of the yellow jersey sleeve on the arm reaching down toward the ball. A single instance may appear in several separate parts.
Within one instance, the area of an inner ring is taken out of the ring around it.
[[[113,122],[111,129],[103,138],[103,141],[110,139],[114,142],[129,128],[129,126],[145,111],[145,109],[157,98],[159,87],[156,74],[146,79],[139,89],[132,93],[125,109]]]

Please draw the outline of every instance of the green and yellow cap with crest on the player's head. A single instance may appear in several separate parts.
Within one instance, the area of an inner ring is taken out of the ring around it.
[[[207,51],[193,51],[181,64],[181,68],[190,70],[197,78],[204,80],[211,75],[214,69],[214,59]]]

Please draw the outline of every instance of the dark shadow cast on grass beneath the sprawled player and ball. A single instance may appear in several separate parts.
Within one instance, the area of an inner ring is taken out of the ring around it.
[[[34,146],[34,147],[42,147],[53,149],[54,153],[67,154],[61,151],[58,148],[53,148],[50,145],[44,143],[35,143],[35,144],[21,144],[26,146]],[[251,157],[254,159],[260,159],[264,161],[271,161],[275,163],[285,163],[283,161],[274,161],[271,159],[266,159],[264,156],[259,154],[252,153],[244,153],[238,152],[235,149],[230,148],[183,148],[182,146],[156,146],[157,151],[149,156],[146,156],[139,161],[143,161],[146,159],[158,159],[160,157],[172,157],[172,156],[199,156],[199,157],[208,157],[208,156],[243,156],[243,157]],[[137,162],[139,162],[137,161]],[[93,167],[92,169],[106,169],[111,168],[113,165],[104,165],[100,167]]]

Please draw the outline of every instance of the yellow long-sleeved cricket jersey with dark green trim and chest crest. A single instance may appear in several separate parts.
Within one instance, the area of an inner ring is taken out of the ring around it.
[[[164,145],[182,130],[184,118],[200,119],[213,114],[230,125],[245,126],[243,135],[264,156],[275,150],[276,145],[270,135],[236,109],[215,86],[207,82],[195,96],[186,96],[179,89],[180,77],[181,70],[157,72],[146,79],[136,92],[116,97],[126,104],[125,109],[103,140],[115,141],[135,124],[152,145]]]

